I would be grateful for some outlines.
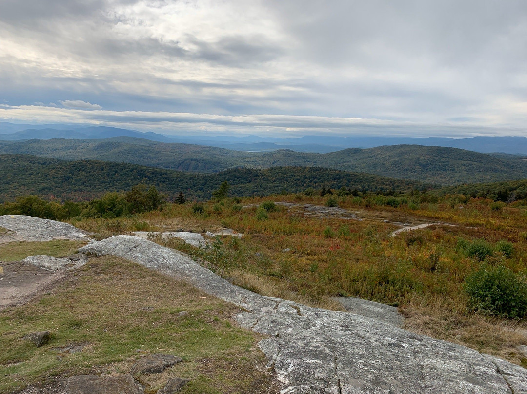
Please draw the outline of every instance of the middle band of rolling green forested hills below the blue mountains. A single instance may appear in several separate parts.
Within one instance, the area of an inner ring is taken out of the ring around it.
[[[120,136],[104,140],[5,141],[0,142],[0,153],[31,154],[70,161],[103,160],[188,172],[218,172],[242,167],[320,167],[442,185],[527,178],[527,159],[523,156],[421,145],[352,148],[330,153],[284,149],[242,152]]]

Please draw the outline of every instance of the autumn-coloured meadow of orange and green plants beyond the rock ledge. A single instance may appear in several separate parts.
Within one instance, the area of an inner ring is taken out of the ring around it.
[[[227,199],[199,209],[191,203],[169,204],[162,211],[131,219],[74,224],[106,235],[139,229],[204,232],[232,228],[245,237],[220,239],[214,247],[201,250],[177,240],[164,244],[212,262],[224,277],[267,296],[329,309],[339,308],[330,299],[336,296],[391,304],[406,317],[407,329],[525,362],[515,349],[527,344],[524,319],[482,310],[476,313],[464,289],[466,278],[487,266],[506,267],[523,278],[527,206],[464,200],[463,196],[402,204],[387,196],[346,196],[337,198],[338,206],[355,212],[360,220],[344,220],[309,215],[302,206],[272,204],[332,205],[329,199],[335,196]],[[391,222],[455,226],[433,226],[391,237],[398,228]],[[480,259],[471,250],[481,244],[489,252]]]

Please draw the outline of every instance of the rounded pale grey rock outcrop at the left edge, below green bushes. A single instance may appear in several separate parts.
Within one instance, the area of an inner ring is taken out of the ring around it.
[[[5,241],[87,240],[87,233],[68,223],[26,215],[2,215],[0,227],[10,233]]]

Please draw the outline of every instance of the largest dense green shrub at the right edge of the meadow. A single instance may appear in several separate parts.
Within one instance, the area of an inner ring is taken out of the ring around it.
[[[484,264],[465,279],[463,289],[475,311],[511,319],[527,313],[527,284],[503,265]]]

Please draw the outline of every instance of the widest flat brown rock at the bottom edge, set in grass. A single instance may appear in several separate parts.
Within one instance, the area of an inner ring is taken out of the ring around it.
[[[144,394],[131,375],[72,376],[66,380],[66,394]]]

